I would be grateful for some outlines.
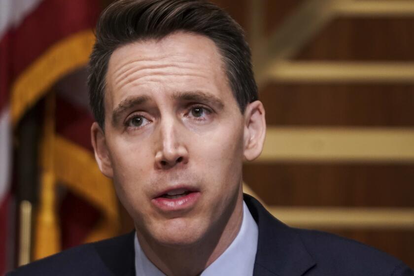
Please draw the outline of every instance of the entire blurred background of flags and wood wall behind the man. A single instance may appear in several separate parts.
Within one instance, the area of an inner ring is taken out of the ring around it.
[[[0,274],[133,224],[95,163],[85,65],[110,0],[0,0]],[[214,0],[268,134],[244,189],[414,267],[414,0]]]

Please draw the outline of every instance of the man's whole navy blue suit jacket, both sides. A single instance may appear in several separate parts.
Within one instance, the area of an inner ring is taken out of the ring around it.
[[[254,276],[414,276],[403,262],[377,249],[288,227],[254,198],[244,195],[244,201],[259,227]],[[9,276],[135,276],[134,234],[71,248]]]

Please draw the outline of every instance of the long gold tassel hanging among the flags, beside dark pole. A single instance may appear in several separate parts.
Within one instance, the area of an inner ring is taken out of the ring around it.
[[[55,93],[46,96],[43,140],[40,150],[42,167],[40,201],[35,224],[35,260],[61,250],[60,229],[56,214],[55,150]]]

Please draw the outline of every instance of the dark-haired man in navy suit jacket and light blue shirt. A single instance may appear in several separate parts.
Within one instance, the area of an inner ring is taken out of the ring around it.
[[[121,0],[97,26],[92,144],[136,231],[11,275],[414,275],[357,242],[289,228],[242,194],[266,132],[239,25],[204,0]]]

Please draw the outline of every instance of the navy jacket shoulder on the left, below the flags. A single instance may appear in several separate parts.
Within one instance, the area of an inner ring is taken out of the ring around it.
[[[134,234],[130,233],[70,248],[22,266],[7,276],[112,275],[130,268],[133,259]]]

